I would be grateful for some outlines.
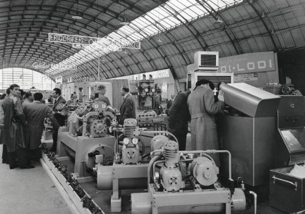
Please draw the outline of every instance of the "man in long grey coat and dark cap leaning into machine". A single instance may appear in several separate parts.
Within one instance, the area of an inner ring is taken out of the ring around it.
[[[223,92],[219,91],[219,101],[215,102],[210,86],[214,87],[207,79],[201,79],[196,83],[194,91],[188,98],[191,114],[191,150],[217,150],[219,148],[214,115],[225,108],[224,96]],[[211,156],[219,166],[219,155]]]

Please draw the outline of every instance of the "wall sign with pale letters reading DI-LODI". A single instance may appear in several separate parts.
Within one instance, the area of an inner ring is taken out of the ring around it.
[[[275,56],[272,51],[256,52],[224,57],[219,59],[219,72],[252,73],[261,71],[274,71]]]

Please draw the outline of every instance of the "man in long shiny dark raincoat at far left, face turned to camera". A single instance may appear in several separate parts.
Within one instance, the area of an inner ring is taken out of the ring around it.
[[[2,102],[4,111],[4,127],[1,132],[1,140],[6,145],[10,169],[31,169],[34,166],[27,164],[23,127],[26,125],[25,117],[21,108],[20,87],[16,84],[10,86],[10,94]]]

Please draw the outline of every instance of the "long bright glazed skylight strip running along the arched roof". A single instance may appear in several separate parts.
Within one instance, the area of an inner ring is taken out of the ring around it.
[[[133,41],[141,41],[146,37],[156,35],[160,29],[162,31],[169,30],[176,25],[181,24],[181,21],[186,22],[204,15],[209,15],[209,12],[206,10],[214,12],[241,3],[242,1],[243,0],[205,0],[198,3],[197,0],[169,0],[163,5],[131,21],[130,25],[124,25],[107,36],[100,38],[99,42],[94,42],[84,49],[80,49],[73,56],[60,62],[60,64],[74,64],[77,66],[97,58],[98,49],[100,49],[100,55],[106,55],[109,52],[114,51],[111,48],[105,48],[106,45],[111,44],[111,42],[106,39],[120,40],[130,38]],[[55,70],[53,68],[46,70],[46,73],[52,74],[59,72],[62,72],[62,70]]]

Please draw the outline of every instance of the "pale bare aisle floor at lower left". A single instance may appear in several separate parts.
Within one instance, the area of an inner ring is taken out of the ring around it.
[[[41,164],[34,165],[34,169],[10,170],[0,164],[0,214],[71,213]]]

